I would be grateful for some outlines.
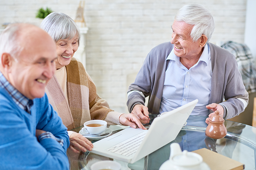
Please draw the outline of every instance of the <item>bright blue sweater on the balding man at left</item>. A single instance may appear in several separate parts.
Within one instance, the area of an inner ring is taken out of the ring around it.
[[[31,114],[28,114],[0,87],[0,169],[68,170],[67,128],[49,104],[46,94],[33,102]],[[63,139],[63,147],[52,138],[39,143],[36,129]]]

